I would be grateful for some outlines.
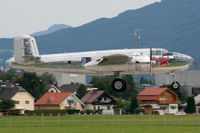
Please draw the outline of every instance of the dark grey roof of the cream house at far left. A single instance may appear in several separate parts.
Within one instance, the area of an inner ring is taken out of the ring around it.
[[[27,92],[21,86],[0,86],[0,99],[12,98],[17,92]]]

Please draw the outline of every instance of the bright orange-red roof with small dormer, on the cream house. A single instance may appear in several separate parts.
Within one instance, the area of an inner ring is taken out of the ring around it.
[[[60,92],[60,93],[45,93],[39,100],[36,101],[35,105],[59,105],[61,104],[71,92]]]

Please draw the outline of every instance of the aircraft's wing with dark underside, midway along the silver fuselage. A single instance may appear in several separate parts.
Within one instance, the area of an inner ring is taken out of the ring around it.
[[[124,64],[131,61],[131,57],[124,54],[113,54],[109,56],[103,56],[99,59],[92,60],[86,63],[84,66],[94,65],[113,65],[113,64]]]

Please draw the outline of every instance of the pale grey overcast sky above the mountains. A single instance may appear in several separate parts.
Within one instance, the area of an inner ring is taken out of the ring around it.
[[[46,30],[53,24],[80,26],[161,0],[0,0],[0,38]]]

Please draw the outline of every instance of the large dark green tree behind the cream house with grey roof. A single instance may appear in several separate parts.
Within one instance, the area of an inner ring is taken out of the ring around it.
[[[45,85],[43,81],[36,75],[36,73],[24,73],[21,79],[15,81],[26,89],[34,98],[39,99],[45,92]]]

